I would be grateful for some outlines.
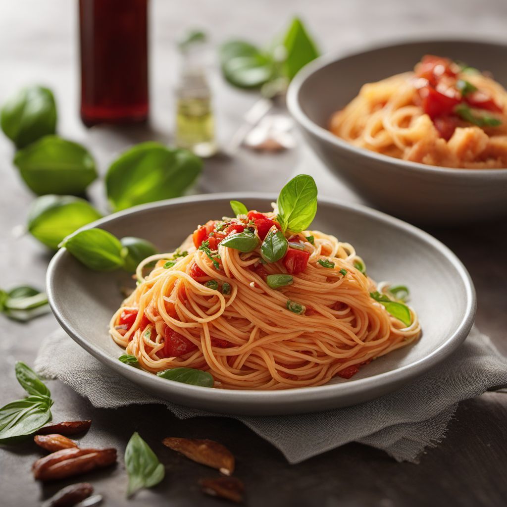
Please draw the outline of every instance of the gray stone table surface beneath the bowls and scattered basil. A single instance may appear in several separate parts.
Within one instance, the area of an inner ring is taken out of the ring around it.
[[[58,101],[60,133],[85,143],[103,174],[115,154],[134,142],[171,141],[173,48],[182,29],[203,27],[213,43],[234,35],[267,43],[294,13],[305,19],[323,51],[441,35],[507,39],[507,4],[503,0],[153,1],[150,128],[87,130],[78,115],[77,1],[4,1],[0,6],[0,102],[29,83],[51,87]],[[256,95],[230,88],[219,76],[213,77],[213,86],[220,139],[225,142]],[[0,286],[29,282],[42,287],[50,254],[30,236],[16,237],[12,232],[16,225],[24,224],[33,199],[12,167],[12,156],[11,144],[0,136]],[[195,192],[276,191],[291,174],[302,171],[315,175],[321,194],[359,201],[304,147],[278,156],[241,150],[233,159],[216,158],[206,163]],[[92,185],[90,197],[104,212],[107,210],[102,182]],[[507,353],[505,222],[428,231],[466,265],[477,288],[477,324]],[[6,403],[20,395],[13,372],[15,361],[32,364],[41,340],[57,324],[51,315],[24,325],[3,317],[0,320],[0,403]],[[197,418],[182,422],[160,406],[98,410],[58,381],[51,382],[50,388],[56,402],[54,420],[93,420],[83,443],[112,445],[123,451],[132,432],[138,430],[166,466],[167,479],[161,485],[129,501],[125,499],[123,461],[114,469],[83,478],[105,495],[108,506],[220,504],[201,496],[197,487],[200,477],[213,476],[212,470],[164,449],[160,439],[168,435],[210,438],[230,447],[238,461],[237,476],[247,488],[248,505],[499,506],[505,505],[507,498],[507,395],[503,393],[486,393],[461,403],[444,441],[428,449],[420,464],[396,463],[382,452],[349,444],[291,466],[270,444],[237,421]],[[39,455],[29,443],[0,450],[1,505],[38,505],[62,485],[74,482],[44,487],[34,482],[30,466]]]

